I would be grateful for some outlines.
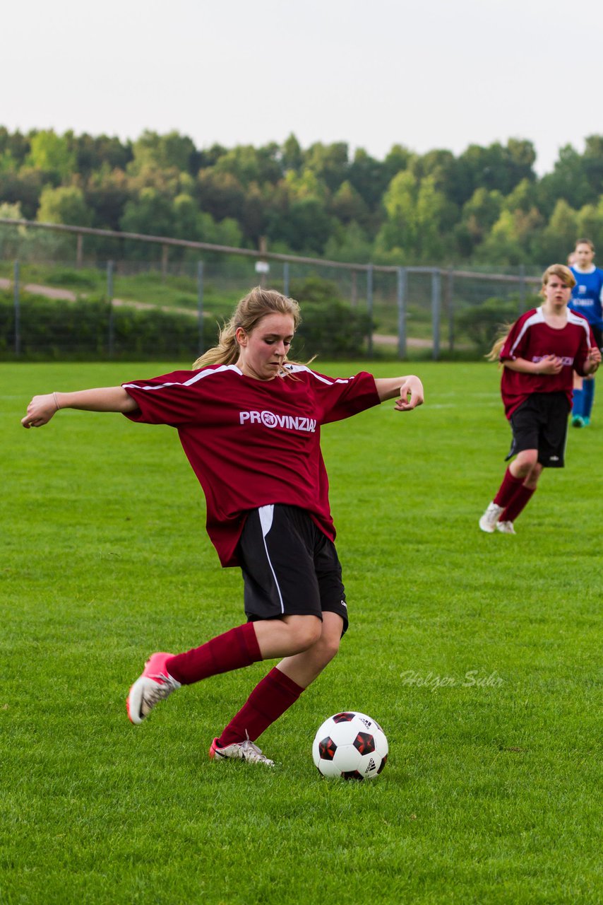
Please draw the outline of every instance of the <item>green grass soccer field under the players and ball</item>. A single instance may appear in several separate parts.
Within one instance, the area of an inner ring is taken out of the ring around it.
[[[417,365],[423,408],[325,427],[351,627],[260,738],[268,771],[207,758],[266,664],[127,720],[148,653],[243,618],[174,432],[71,411],[19,424],[33,393],[172,367],[0,366],[0,901],[600,901],[603,398],[516,537],[477,529],[510,439],[494,366]],[[344,709],[388,735],[371,783],[312,763]]]

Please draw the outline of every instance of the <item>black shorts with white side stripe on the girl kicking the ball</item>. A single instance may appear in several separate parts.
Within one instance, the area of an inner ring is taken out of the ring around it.
[[[306,510],[275,503],[252,510],[237,549],[248,622],[337,613],[347,630],[342,568],[332,540]],[[342,632],[342,634],[344,633]]]

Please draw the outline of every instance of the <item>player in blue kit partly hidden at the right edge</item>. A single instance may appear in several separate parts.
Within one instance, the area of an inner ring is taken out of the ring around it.
[[[574,249],[574,262],[570,271],[576,279],[571,292],[569,308],[577,311],[589,321],[598,348],[603,341],[603,271],[595,267],[593,258],[595,246],[589,239],[579,239]],[[574,399],[571,409],[571,424],[574,427],[588,427],[595,395],[595,381],[592,376],[574,379]]]

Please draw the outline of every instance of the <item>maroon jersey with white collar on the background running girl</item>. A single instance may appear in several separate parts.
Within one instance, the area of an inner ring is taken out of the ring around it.
[[[568,309],[568,322],[562,329],[549,327],[542,314],[542,306],[526,311],[517,319],[501,349],[500,359],[514,361],[542,361],[548,355],[561,358],[559,374],[523,374],[503,368],[501,393],[504,414],[510,418],[532,393],[565,393],[571,405],[572,370],[584,374],[584,363],[590,346],[595,345],[589,321]]]

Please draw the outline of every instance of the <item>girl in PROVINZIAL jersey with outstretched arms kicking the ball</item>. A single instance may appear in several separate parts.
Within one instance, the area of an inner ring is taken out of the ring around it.
[[[269,767],[255,740],[333,659],[348,622],[320,425],[385,399],[396,398],[399,412],[423,402],[416,376],[342,380],[287,362],[298,322],[296,301],[257,288],[192,371],[34,396],[22,422],[41,427],[77,408],[178,430],[221,565],[242,570],[248,622],[186,653],[152,654],[130,688],[128,716],[141,723],[182,685],[283,658],[210,748],[217,760]]]

